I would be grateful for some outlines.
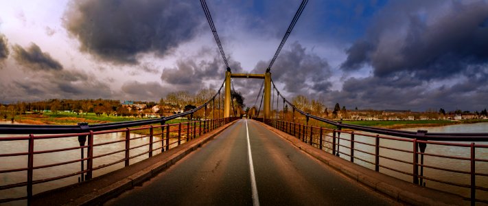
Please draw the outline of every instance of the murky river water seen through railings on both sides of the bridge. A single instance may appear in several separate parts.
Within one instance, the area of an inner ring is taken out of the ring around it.
[[[0,124],[12,124],[10,121],[0,121]],[[428,130],[429,132],[436,132],[436,133],[488,133],[488,123],[478,123],[478,124],[456,124],[456,125],[449,125],[449,126],[437,126],[437,127],[426,127],[426,128],[406,128],[403,130]],[[1,137],[12,137],[15,135],[0,135]],[[25,136],[25,135],[24,135]],[[140,137],[137,134],[131,134],[131,137]],[[349,135],[342,133],[341,137],[349,139]],[[149,142],[149,137],[143,137],[141,139],[135,139],[130,141],[130,146],[138,146],[141,144],[146,144]],[[104,135],[95,135],[94,142],[102,143],[107,141],[116,141],[125,139],[124,133],[110,133]],[[161,139],[161,137],[154,137],[154,141]],[[171,139],[170,142],[177,141],[177,139]],[[371,137],[364,137],[361,135],[356,135],[356,141],[362,141],[369,144],[374,144],[374,139]],[[184,141],[183,141],[184,142]],[[479,142],[476,144],[487,144],[486,142]],[[348,141],[341,141],[341,145],[350,146]],[[403,150],[413,150],[413,144],[410,142],[400,142],[400,141],[391,141],[387,139],[382,139],[380,141],[381,146],[388,146],[392,148],[399,148]],[[36,140],[34,144],[34,150],[52,150],[57,148],[70,148],[79,146],[78,138],[77,137],[69,137],[69,138],[60,138],[60,139],[40,139]],[[161,144],[154,144],[154,148],[160,147]],[[125,148],[124,142],[120,142],[117,144],[109,144],[104,146],[99,146],[94,148],[94,155],[101,155],[107,152],[113,152],[115,150],[122,150]],[[355,145],[356,149],[364,150],[367,152],[373,152],[374,148],[371,146],[364,146],[361,144]],[[148,150],[148,146],[143,146],[141,148],[137,148],[130,152],[130,155],[136,155]],[[342,152],[349,154],[349,149],[347,148],[340,148]],[[0,141],[0,154],[5,153],[14,153],[14,152],[26,152],[27,151],[27,141]],[[155,151],[153,154],[158,154],[161,151]],[[428,144],[426,148],[426,152],[434,153],[434,154],[441,154],[441,155],[451,155],[456,157],[469,157],[469,148],[459,148],[459,147],[452,147],[452,146],[437,146]],[[402,159],[404,161],[412,162],[412,155],[407,154],[404,152],[397,152],[393,150],[388,150],[381,148],[380,154],[386,157],[393,157],[395,159]],[[86,152],[85,152],[86,155]],[[361,152],[355,152],[355,156],[360,157],[362,159],[366,159],[368,161],[374,162],[374,157],[371,155],[367,155]],[[143,159],[146,159],[148,155],[143,155],[141,157],[137,157],[135,159],[130,160],[130,164],[136,163]],[[342,158],[348,159],[346,155],[341,155]],[[50,163],[59,163],[62,161],[70,161],[74,159],[80,158],[80,150],[71,150],[65,152],[54,152],[54,153],[47,153],[47,154],[40,154],[34,155],[34,166],[37,165],[47,165]],[[478,159],[488,159],[488,149],[478,148],[476,149],[476,158]],[[113,161],[117,161],[119,159],[124,159],[124,152],[117,153],[115,155],[111,155],[108,157],[102,157],[100,159],[95,159],[93,161],[93,167],[97,167],[98,165],[104,165],[106,163],[111,163]],[[364,167],[371,168],[374,170],[374,166],[366,163],[364,161],[356,160],[356,163],[363,165]],[[439,157],[425,157],[426,165],[434,165],[441,168],[450,168],[454,170],[463,170],[469,171],[469,161],[465,160],[455,160],[455,159],[445,159]],[[405,172],[412,172],[412,165],[406,163],[398,163],[395,161],[391,161],[388,159],[380,158],[380,164],[386,165],[388,167],[395,168],[397,170],[402,170]],[[7,170],[10,168],[26,168],[27,167],[27,157],[26,156],[17,156],[17,157],[1,157],[0,158],[0,170]],[[111,172],[120,168],[124,167],[124,162],[117,163],[115,165],[111,165],[107,168],[103,168],[101,170],[95,170],[93,172],[93,176],[100,176],[102,174],[106,174],[107,172]],[[53,176],[58,176],[62,174],[69,174],[72,172],[80,171],[80,163],[71,163],[67,165],[57,166],[53,168],[44,168],[39,170],[34,170],[34,180],[38,179],[46,179]],[[486,162],[478,162],[476,163],[476,171],[477,172],[487,172],[488,171],[488,163]],[[408,176],[406,174],[402,174],[399,172],[394,172],[392,170],[387,170],[385,168],[380,168],[380,172],[384,174],[388,174],[391,176],[395,176],[399,179],[404,179],[405,181],[412,181],[412,176]],[[424,169],[425,176],[431,176],[436,179],[441,179],[443,181],[454,181],[456,183],[463,183],[469,185],[469,174],[455,174],[452,172],[443,172],[439,170],[433,170],[430,168]],[[27,172],[10,172],[10,173],[3,173],[0,174],[0,185],[9,185],[12,183],[20,183],[26,181]],[[65,185],[70,185],[73,183],[78,183],[78,176],[71,176],[66,179],[61,179],[58,181],[51,181],[47,183],[40,183],[34,185],[33,190],[34,194],[38,194],[39,192],[43,192],[46,190],[52,190],[58,187],[62,187]],[[469,189],[461,188],[461,187],[454,187],[450,185],[445,185],[442,183],[437,183],[434,181],[425,181],[428,187],[436,188],[438,190],[444,190],[448,192],[453,192],[456,194],[461,194],[463,196],[469,196]],[[477,176],[476,177],[476,185],[481,185],[483,187],[488,187],[488,178],[485,176]],[[19,196],[25,196],[25,187],[16,187],[10,190],[3,190],[0,192],[0,199],[3,198],[14,198]],[[477,198],[488,199],[487,192],[477,192]],[[16,201],[10,203],[12,205],[18,204],[25,204],[23,201]]]

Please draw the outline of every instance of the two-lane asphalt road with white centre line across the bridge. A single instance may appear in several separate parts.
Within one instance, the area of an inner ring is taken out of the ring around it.
[[[252,154],[252,161],[249,153]],[[106,203],[259,204],[395,203],[331,170],[259,123],[246,119],[241,119],[224,130],[218,137],[187,155],[165,172]]]

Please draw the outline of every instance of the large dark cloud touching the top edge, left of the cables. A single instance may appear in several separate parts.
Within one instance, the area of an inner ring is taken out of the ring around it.
[[[167,54],[194,37],[202,23],[196,1],[72,1],[65,27],[80,49],[102,60],[137,64],[146,52]]]

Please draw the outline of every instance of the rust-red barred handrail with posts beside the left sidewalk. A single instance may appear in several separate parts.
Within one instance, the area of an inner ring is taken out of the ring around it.
[[[201,107],[200,107],[201,108]],[[181,116],[181,115],[186,115],[189,114],[188,112],[178,114],[176,116]],[[176,118],[176,117],[175,117]],[[106,128],[106,126],[102,127],[95,127],[95,128],[89,128],[90,130],[88,132],[83,132],[83,133],[66,133],[66,134],[49,134],[49,135],[29,135],[28,137],[5,137],[5,138],[0,138],[0,141],[29,141],[29,150],[27,152],[16,152],[16,153],[7,153],[7,154],[1,154],[0,158],[3,157],[14,157],[14,156],[27,156],[27,161],[29,161],[27,168],[8,168],[8,169],[1,169],[0,174],[5,174],[5,173],[10,173],[10,172],[19,172],[19,171],[27,171],[27,181],[21,182],[21,183],[13,183],[9,185],[0,185],[0,192],[2,190],[9,190],[14,187],[23,187],[27,186],[27,196],[23,198],[0,198],[0,203],[7,203],[10,201],[16,201],[20,199],[27,199],[27,201],[30,201],[32,199],[32,185],[39,184],[39,183],[45,183],[49,181],[56,181],[58,179],[65,179],[70,176],[76,176],[80,175],[81,177],[78,179],[78,181],[88,181],[89,179],[93,178],[93,171],[95,170],[100,170],[102,168],[106,168],[110,165],[115,165],[117,163],[124,163],[125,166],[129,165],[129,162],[132,161],[132,159],[136,157],[141,157],[143,155],[148,155],[147,158],[152,157],[152,153],[160,150],[161,152],[164,152],[166,150],[170,150],[176,144],[182,144],[181,141],[184,141],[183,143],[186,143],[188,141],[191,141],[192,139],[195,139],[196,137],[199,137],[205,133],[209,133],[210,130],[214,130],[216,128],[219,128],[220,126],[223,126],[224,124],[227,124],[229,122],[232,122],[233,120],[237,119],[237,117],[225,117],[222,119],[205,119],[205,120],[196,120],[196,121],[191,121],[191,122],[185,122],[185,124],[163,124],[161,126],[143,126],[140,128],[128,128],[126,127],[125,129],[115,129],[115,130],[101,130],[100,128]],[[150,124],[151,121],[146,121],[146,124]],[[141,122],[137,122],[137,124],[141,124]],[[127,124],[118,124],[116,126],[124,125],[126,126]],[[131,124],[132,125],[132,124]],[[183,125],[183,126],[182,126]],[[163,132],[161,133],[161,139],[160,140],[153,140],[154,135],[154,128],[161,128]],[[97,129],[98,131],[95,133],[94,130]],[[149,130],[150,135],[141,135],[140,137],[134,137],[131,135],[130,131],[132,130]],[[108,134],[108,133],[126,133],[126,136],[124,139],[119,139],[115,141],[98,141],[94,142],[94,136],[95,135],[102,135],[102,134]],[[178,141],[172,141],[170,142],[170,139],[176,138],[175,135],[172,133],[178,133]],[[89,138],[80,141],[80,146],[67,146],[65,148],[56,148],[56,149],[47,149],[47,150],[34,150],[33,145],[34,142],[37,141],[43,141],[45,139],[52,139],[52,138],[80,138],[80,136],[85,136],[88,135]],[[181,136],[185,136],[185,139],[181,139]],[[143,142],[142,144],[140,141],[143,139],[143,137],[149,137],[149,142]],[[130,141],[138,140],[139,144],[137,145],[130,145]],[[84,145],[86,140],[88,140],[88,145]],[[104,146],[108,144],[119,144],[125,142],[126,146],[125,148],[120,148],[115,150],[108,150],[104,154],[100,155],[93,155],[93,148],[98,148],[99,146]],[[153,148],[153,144],[156,144],[157,148]],[[159,147],[161,146],[161,147]],[[146,150],[141,148],[145,148]],[[147,149],[148,147],[148,149]],[[65,151],[70,151],[70,150],[76,150],[80,149],[82,157],[80,159],[75,158],[75,159],[67,159],[63,160],[57,163],[46,163],[45,165],[38,165],[36,164],[34,166],[34,156],[39,155],[39,154],[45,154],[45,153],[51,153],[51,152],[65,152]],[[84,157],[84,150],[87,151],[86,157]],[[135,152],[137,153],[135,153]],[[117,159],[112,162],[106,162],[100,165],[94,165],[93,162],[97,161],[100,157],[107,157],[109,155],[115,155],[117,153],[124,153],[125,152],[125,157],[123,159]],[[54,177],[49,177],[47,179],[36,179],[34,180],[32,177],[33,171],[34,170],[39,170],[43,168],[51,168],[51,167],[57,167],[61,165],[67,165],[70,163],[78,163],[80,162],[82,165],[81,170],[78,171],[72,171],[69,170],[65,174],[56,174],[57,176]],[[86,165],[86,168],[84,168],[84,165]],[[71,171],[71,172],[70,172]]]

